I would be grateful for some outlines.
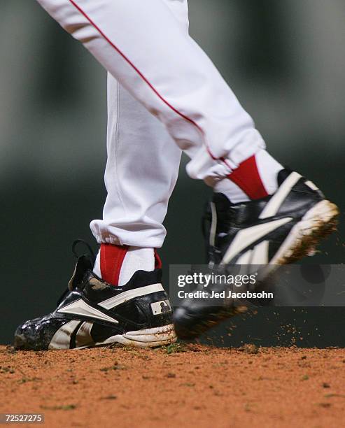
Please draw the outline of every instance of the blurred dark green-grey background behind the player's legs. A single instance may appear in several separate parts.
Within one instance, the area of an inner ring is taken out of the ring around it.
[[[190,0],[192,36],[269,151],[342,213],[344,18],[342,0]],[[73,271],[73,239],[94,242],[88,224],[105,198],[106,73],[35,2],[2,0],[0,24],[0,343],[10,343],[17,324],[55,307]],[[169,264],[204,262],[199,218],[210,191],[186,176],[185,162],[165,222],[165,278]],[[343,220],[313,263],[343,263]],[[204,340],[343,346],[344,317],[344,308],[261,308]]]

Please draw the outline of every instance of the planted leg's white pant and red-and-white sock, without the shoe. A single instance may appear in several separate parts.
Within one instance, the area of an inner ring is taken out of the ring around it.
[[[187,0],[162,1],[188,33]],[[134,272],[155,268],[154,248],[162,246],[166,234],[162,222],[176,184],[181,149],[157,117],[110,73],[107,153],[103,219],[91,222],[101,244],[94,273],[108,283],[124,285]]]

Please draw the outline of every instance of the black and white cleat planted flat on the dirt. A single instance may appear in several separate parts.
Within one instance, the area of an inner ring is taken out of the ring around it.
[[[139,347],[176,341],[162,271],[136,271],[123,287],[92,273],[94,257],[78,257],[57,309],[15,331],[17,350],[66,350],[122,343]]]

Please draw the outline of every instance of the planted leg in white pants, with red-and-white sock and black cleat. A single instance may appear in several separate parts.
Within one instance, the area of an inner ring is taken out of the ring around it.
[[[185,1],[164,1],[171,3],[187,31]],[[176,338],[153,248],[164,240],[162,220],[176,183],[181,149],[164,125],[111,75],[107,150],[104,220],[92,222],[102,243],[96,265],[93,257],[78,258],[70,292],[56,311],[17,328],[16,348],[69,349],[113,342],[155,346]],[[92,270],[107,283],[125,287],[101,283]],[[85,322],[85,316],[94,322]]]

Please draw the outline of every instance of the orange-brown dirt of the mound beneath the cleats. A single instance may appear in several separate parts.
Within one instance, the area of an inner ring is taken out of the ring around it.
[[[345,350],[13,352],[0,348],[1,413],[47,427],[335,427],[345,420]]]

